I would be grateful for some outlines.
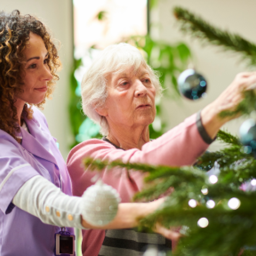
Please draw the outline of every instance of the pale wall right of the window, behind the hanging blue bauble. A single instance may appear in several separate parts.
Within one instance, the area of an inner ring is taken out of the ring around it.
[[[172,14],[175,6],[184,7],[194,14],[199,14],[211,24],[238,33],[256,43],[256,1],[254,0],[159,0],[159,9],[153,12],[152,17],[154,22],[159,22],[158,37],[170,43],[177,41],[187,43],[194,54],[197,70],[209,82],[206,99],[198,102],[185,99],[180,102],[170,99],[163,101],[163,118],[168,123],[168,128],[177,125],[187,116],[212,102],[232,82],[238,72],[248,70],[244,63],[239,63],[239,55],[223,52],[219,47],[209,44],[202,47],[199,40],[184,36]],[[231,121],[225,128],[237,133],[241,122],[241,119]]]

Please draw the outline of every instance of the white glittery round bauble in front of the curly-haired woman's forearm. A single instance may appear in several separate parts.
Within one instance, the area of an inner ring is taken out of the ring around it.
[[[102,180],[88,187],[83,193],[85,221],[94,226],[107,225],[116,217],[118,204],[121,201],[118,192]]]

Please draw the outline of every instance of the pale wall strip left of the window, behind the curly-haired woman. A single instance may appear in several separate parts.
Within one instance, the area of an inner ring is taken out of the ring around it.
[[[52,100],[45,104],[46,116],[52,136],[57,138],[64,159],[69,152],[70,126],[68,116],[69,74],[72,65],[72,0],[0,0],[0,9],[10,12],[19,9],[21,14],[36,15],[61,42],[59,57],[62,71]]]

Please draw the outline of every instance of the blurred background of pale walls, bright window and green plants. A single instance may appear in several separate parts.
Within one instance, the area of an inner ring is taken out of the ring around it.
[[[254,0],[0,0],[1,10],[19,9],[22,14],[38,17],[59,45],[60,79],[43,113],[64,159],[74,145],[100,137],[99,128],[82,114],[80,82],[92,59],[109,44],[124,41],[137,46],[161,74],[166,90],[156,102],[152,138],[204,108],[237,73],[249,70],[237,55],[181,33],[172,11],[176,6],[256,42]],[[177,77],[188,67],[197,69],[208,81],[207,97],[191,101],[178,95]],[[237,119],[225,128],[237,134],[241,123]],[[210,150],[219,147],[214,142]]]

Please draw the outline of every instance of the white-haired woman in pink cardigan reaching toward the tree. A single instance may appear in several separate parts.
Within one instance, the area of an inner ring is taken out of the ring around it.
[[[86,157],[154,165],[191,165],[214,140],[229,119],[219,119],[222,110],[233,109],[241,101],[241,90],[254,87],[255,73],[237,75],[217,100],[187,118],[156,140],[149,140],[149,124],[156,114],[155,97],[161,86],[139,50],[120,43],[102,51],[85,73],[81,83],[83,111],[102,128],[102,140],[91,139],[74,147],[67,159],[73,194],[81,196],[92,185],[95,173],[84,171]],[[101,174],[105,183],[129,202],[142,188],[144,175],[114,169]],[[83,256],[139,255],[145,244],[166,245],[164,237],[135,230],[83,231]]]

